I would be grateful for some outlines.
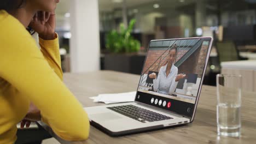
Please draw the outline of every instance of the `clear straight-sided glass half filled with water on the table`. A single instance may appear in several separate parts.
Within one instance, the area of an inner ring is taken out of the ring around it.
[[[240,136],[241,75],[217,75],[218,135]]]

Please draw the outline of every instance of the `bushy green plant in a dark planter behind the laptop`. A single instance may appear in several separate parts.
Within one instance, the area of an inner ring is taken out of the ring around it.
[[[131,35],[135,22],[132,19],[127,28],[121,23],[119,31],[107,34],[106,48],[109,53],[104,56],[104,69],[141,74],[145,55],[139,55],[141,44]]]

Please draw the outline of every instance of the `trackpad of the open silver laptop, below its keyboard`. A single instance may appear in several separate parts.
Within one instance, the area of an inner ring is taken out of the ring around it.
[[[115,115],[114,113],[111,112],[104,112],[104,113],[97,113],[94,115],[90,115],[91,119],[97,119],[97,121],[111,121],[115,119],[122,118],[118,115]]]

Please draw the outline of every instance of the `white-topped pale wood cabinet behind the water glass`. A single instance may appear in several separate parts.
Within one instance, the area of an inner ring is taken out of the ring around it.
[[[222,62],[221,65],[222,74],[242,75],[242,89],[244,91],[256,92],[256,60]]]

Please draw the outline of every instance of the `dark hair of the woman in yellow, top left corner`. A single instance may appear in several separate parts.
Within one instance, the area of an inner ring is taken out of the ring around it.
[[[26,3],[26,0],[1,0],[0,10],[10,12],[11,10],[19,9]]]

